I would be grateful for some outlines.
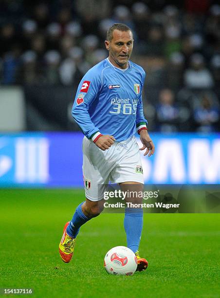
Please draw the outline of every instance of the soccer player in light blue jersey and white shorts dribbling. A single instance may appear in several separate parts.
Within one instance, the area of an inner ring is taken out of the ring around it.
[[[154,153],[143,113],[143,68],[129,58],[133,34],[125,24],[114,24],[105,41],[109,57],[92,67],[82,78],[73,103],[73,118],[82,129],[83,177],[86,201],[75,210],[64,226],[59,243],[60,257],[70,262],[80,226],[103,210],[103,196],[109,180],[123,189],[141,191],[144,185],[136,131],[140,134],[144,155]],[[99,188],[98,188],[99,186]],[[133,198],[133,202],[140,201]],[[143,209],[126,208],[124,227],[127,245],[135,253],[137,270],[147,268],[138,248],[143,227]]]

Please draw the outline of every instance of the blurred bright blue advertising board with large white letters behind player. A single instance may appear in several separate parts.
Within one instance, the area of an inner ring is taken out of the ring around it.
[[[220,134],[152,133],[146,184],[219,184]],[[0,135],[0,187],[82,187],[81,132]],[[141,147],[139,137],[137,141]]]

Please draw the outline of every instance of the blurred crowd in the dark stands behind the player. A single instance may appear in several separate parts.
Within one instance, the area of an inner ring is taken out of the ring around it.
[[[78,85],[108,56],[115,22],[134,33],[151,129],[219,130],[220,5],[209,0],[1,0],[0,84]]]

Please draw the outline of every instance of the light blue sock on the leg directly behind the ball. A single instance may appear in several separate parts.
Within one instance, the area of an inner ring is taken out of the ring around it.
[[[141,240],[141,232],[143,228],[143,209],[126,208],[124,227],[127,235],[128,248],[135,253],[138,250]]]

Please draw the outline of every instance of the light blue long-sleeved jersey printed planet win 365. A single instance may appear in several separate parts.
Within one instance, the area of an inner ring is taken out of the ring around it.
[[[142,104],[145,71],[131,61],[128,65],[121,71],[107,58],[82,78],[72,114],[87,138],[94,141],[101,133],[124,141],[146,128]]]

